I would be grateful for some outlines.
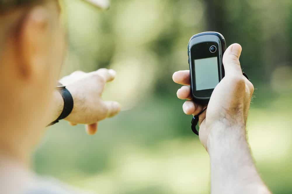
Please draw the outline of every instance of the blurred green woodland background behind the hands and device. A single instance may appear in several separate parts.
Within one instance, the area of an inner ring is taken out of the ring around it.
[[[209,158],[172,81],[187,70],[187,43],[202,31],[242,45],[241,65],[256,90],[248,139],[271,191],[292,191],[292,1],[113,0],[98,10],[67,0],[68,55],[62,75],[101,67],[117,71],[104,99],[123,111],[84,126],[49,128],[34,169],[97,193],[209,193]]]

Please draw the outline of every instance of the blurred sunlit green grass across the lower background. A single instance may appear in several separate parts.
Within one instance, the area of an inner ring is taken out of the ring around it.
[[[274,194],[290,193],[292,121],[289,94],[259,91],[248,119],[258,170]],[[36,151],[36,172],[97,193],[209,193],[209,158],[190,129],[182,101],[150,97],[100,122],[95,136],[61,122]]]

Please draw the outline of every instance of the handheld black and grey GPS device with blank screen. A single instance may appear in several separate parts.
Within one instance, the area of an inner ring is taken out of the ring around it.
[[[208,104],[215,86],[223,79],[225,50],[225,39],[218,32],[202,32],[190,39],[187,53],[191,94],[196,103]]]

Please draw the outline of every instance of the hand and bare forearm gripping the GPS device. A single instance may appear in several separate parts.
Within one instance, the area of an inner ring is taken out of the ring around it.
[[[241,46],[230,45],[223,55],[225,77],[215,87],[207,110],[199,116],[199,138],[211,162],[211,193],[268,194],[260,178],[246,140],[246,119],[253,85],[242,75]],[[188,99],[183,111],[197,115],[203,108],[191,101],[190,72],[173,74],[173,81],[185,85],[177,91]]]

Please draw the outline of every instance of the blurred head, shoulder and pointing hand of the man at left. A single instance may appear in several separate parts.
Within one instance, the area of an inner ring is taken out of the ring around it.
[[[90,1],[106,7],[104,2]],[[65,54],[58,1],[0,0],[0,10],[0,193],[74,193],[42,181],[28,168],[44,133],[41,129],[64,109],[55,89]],[[114,77],[114,70],[100,69],[61,79],[74,100],[65,120],[89,124],[87,132],[94,134],[98,121],[117,114],[119,103],[100,97],[105,83]]]

